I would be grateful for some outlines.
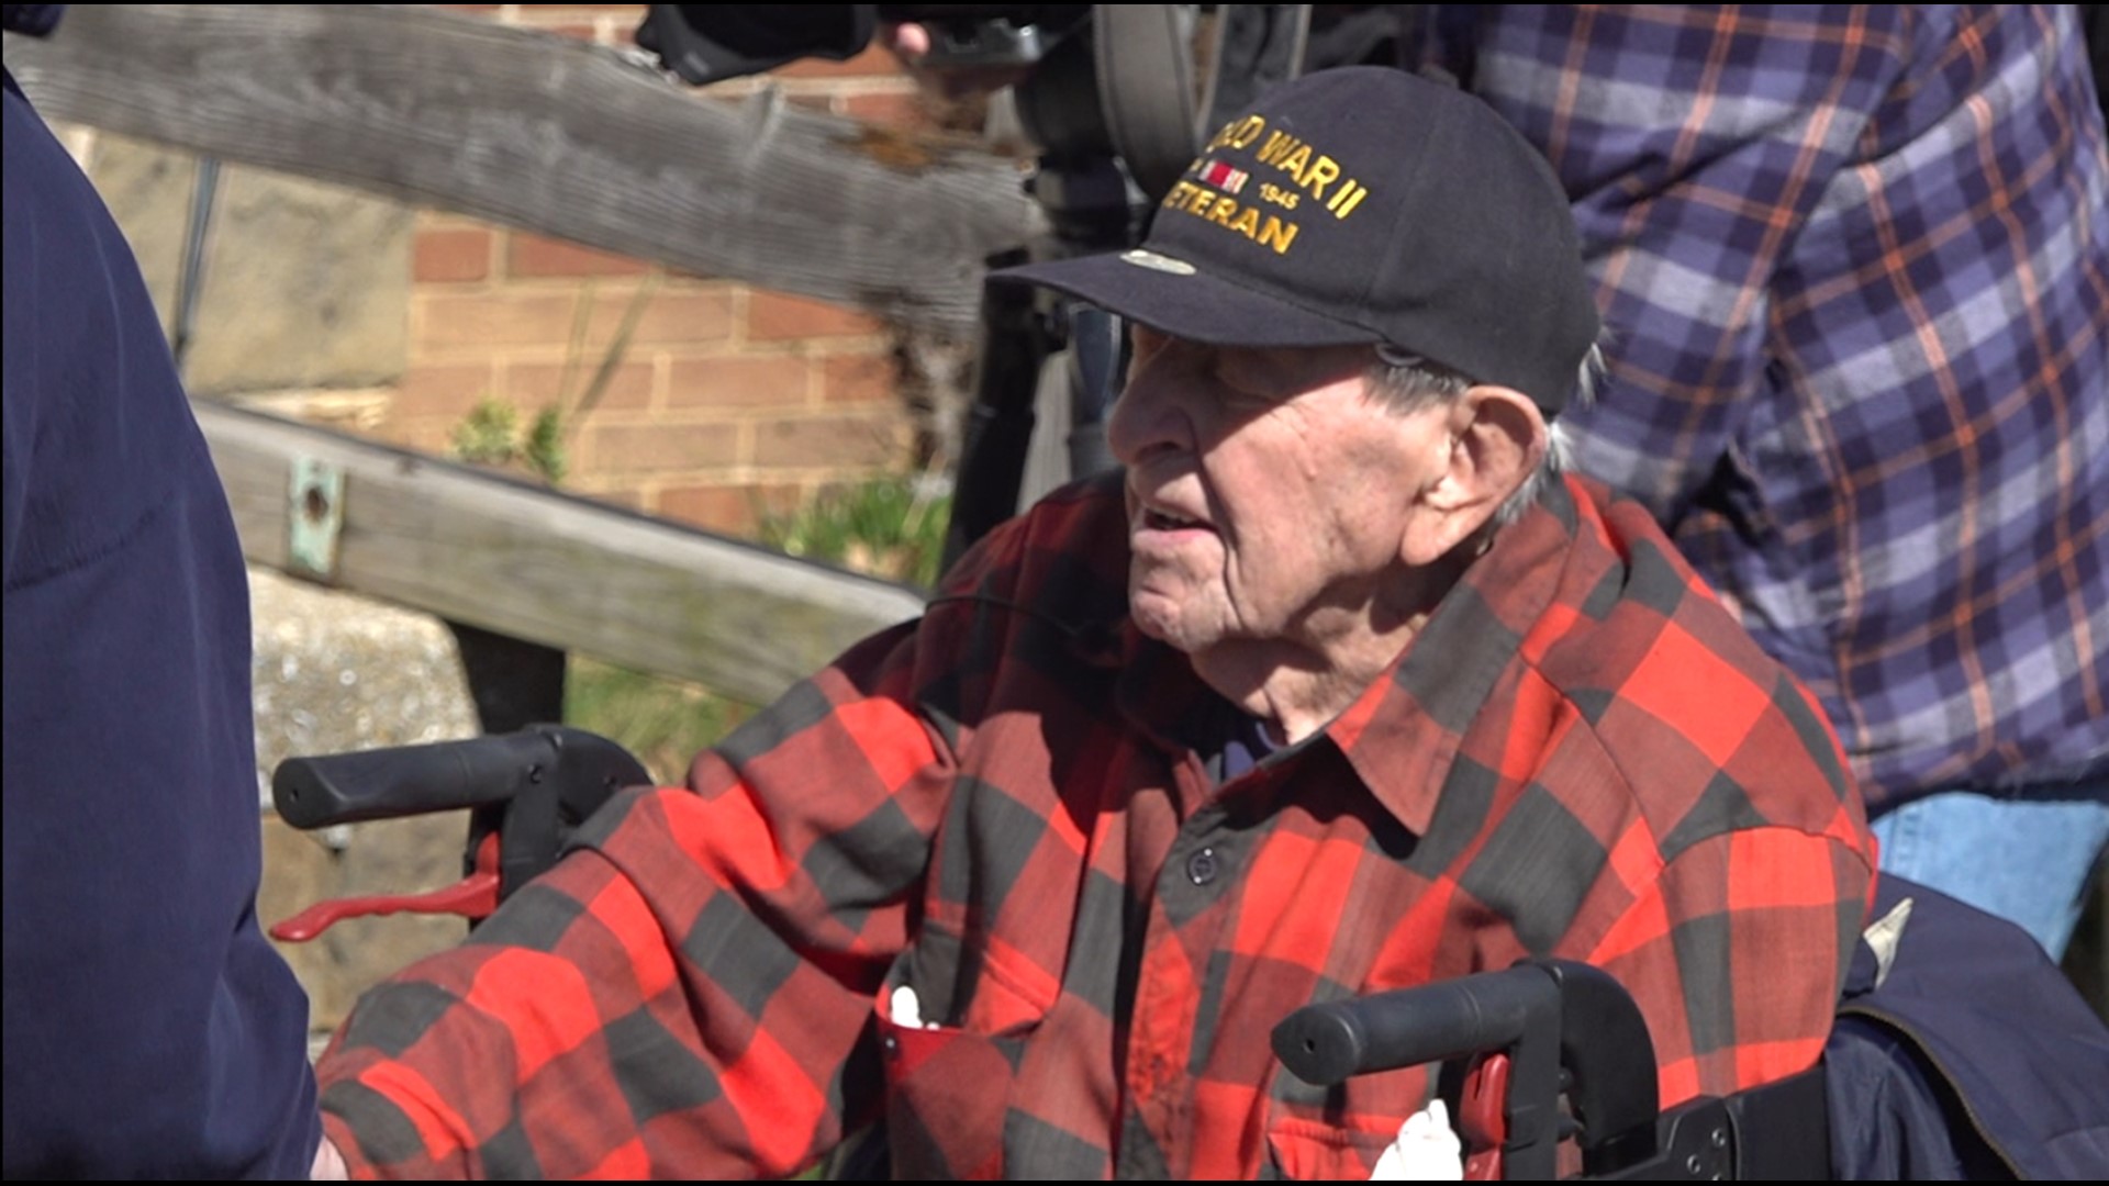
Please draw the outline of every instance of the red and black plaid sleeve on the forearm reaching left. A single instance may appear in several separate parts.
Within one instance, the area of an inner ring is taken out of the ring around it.
[[[873,996],[951,785],[875,635],[637,789],[323,1057],[352,1175],[785,1178],[877,1102]]]

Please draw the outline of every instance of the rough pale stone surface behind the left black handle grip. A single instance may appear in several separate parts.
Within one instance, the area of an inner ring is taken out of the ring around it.
[[[475,737],[477,713],[453,635],[437,618],[251,570],[257,781],[264,796],[266,926],[323,899],[422,893],[462,876],[464,812],[297,831],[270,810],[285,758]],[[329,1032],[361,992],[466,935],[453,916],[340,922],[308,943],[278,943],[308,988],[310,1021]]]

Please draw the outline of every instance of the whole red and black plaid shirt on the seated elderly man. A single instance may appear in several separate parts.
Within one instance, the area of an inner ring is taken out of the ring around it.
[[[782,1175],[884,1114],[903,1178],[1365,1178],[1430,1076],[1312,1089],[1270,1028],[1531,954],[1634,990],[1666,1102],[1816,1059],[1860,804],[1639,504],[1552,487],[1221,785],[1232,709],[1128,625],[1124,523],[1044,500],[369,994],[321,1066],[354,1171]]]

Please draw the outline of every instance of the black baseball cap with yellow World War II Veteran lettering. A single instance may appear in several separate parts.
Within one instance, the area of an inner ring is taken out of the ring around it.
[[[991,272],[1213,346],[1377,344],[1565,407],[1597,302],[1552,167],[1481,99],[1381,65],[1223,125],[1133,251]]]

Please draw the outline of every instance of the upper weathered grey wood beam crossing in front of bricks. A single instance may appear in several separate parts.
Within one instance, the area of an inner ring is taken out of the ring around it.
[[[6,63],[46,118],[955,333],[983,260],[1044,226],[970,141],[432,6],[76,4]]]

